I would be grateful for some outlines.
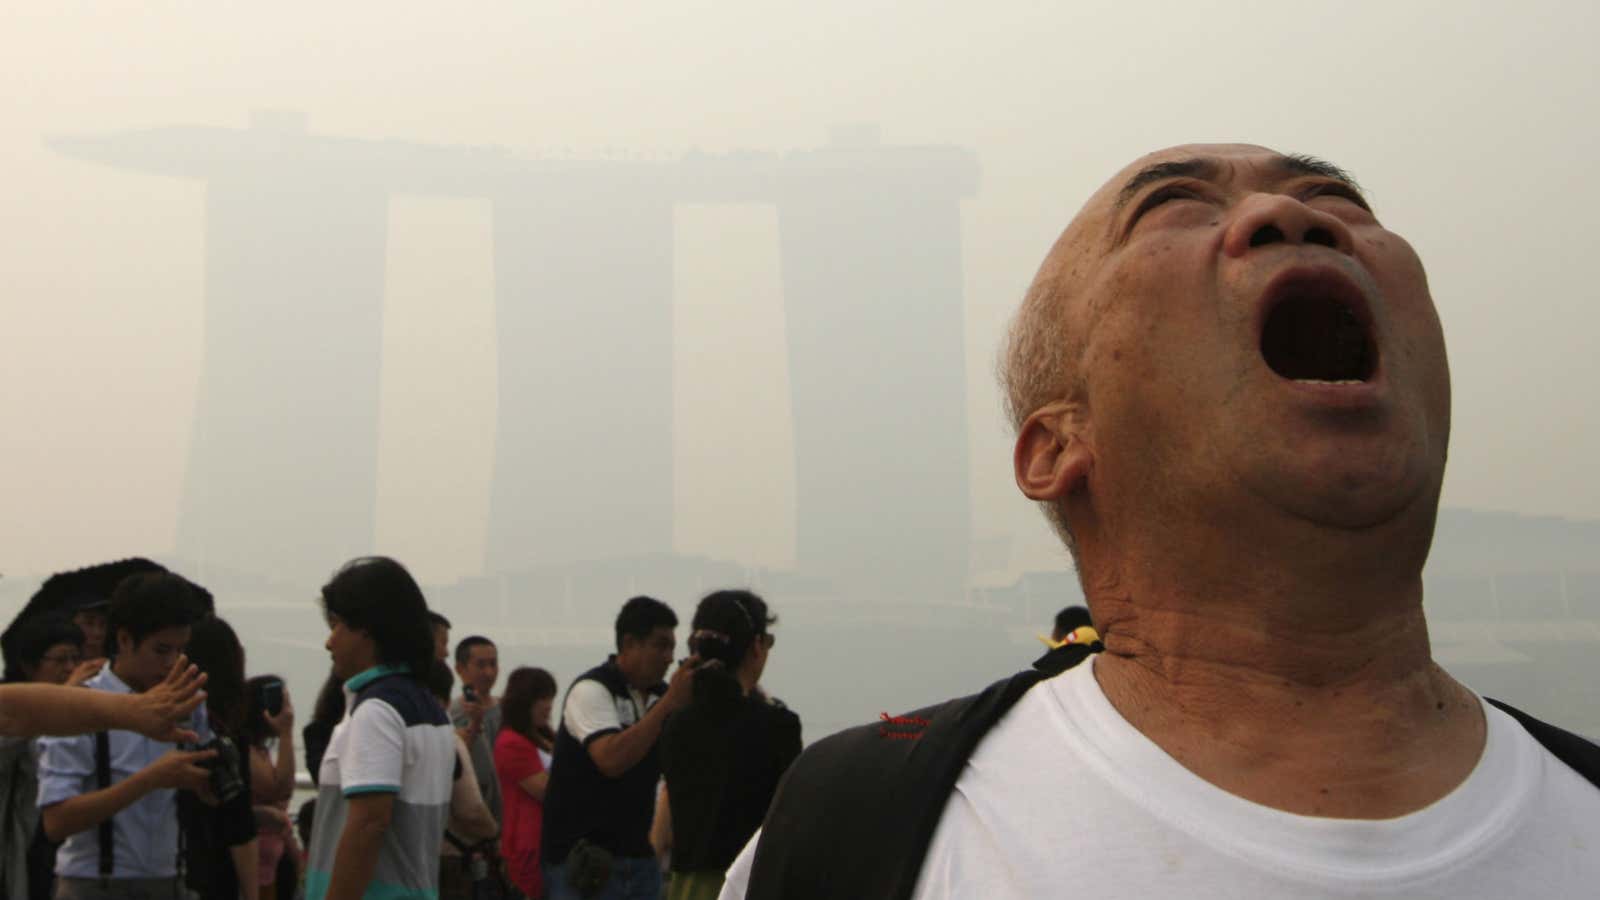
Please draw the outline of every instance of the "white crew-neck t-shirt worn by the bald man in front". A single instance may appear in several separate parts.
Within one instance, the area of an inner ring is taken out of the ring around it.
[[[1483,714],[1483,757],[1440,801],[1400,818],[1317,818],[1189,772],[1083,665],[1029,690],[973,753],[914,895],[1600,897],[1600,791],[1510,716]],[[722,900],[744,897],[757,839]]]

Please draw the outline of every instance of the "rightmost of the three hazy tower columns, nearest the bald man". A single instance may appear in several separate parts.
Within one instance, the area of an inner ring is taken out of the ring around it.
[[[872,168],[800,173],[779,200],[798,569],[952,601],[971,543],[960,200]]]

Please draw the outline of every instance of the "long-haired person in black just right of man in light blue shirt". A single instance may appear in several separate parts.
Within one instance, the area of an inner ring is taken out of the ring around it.
[[[208,615],[189,636],[189,658],[210,676],[206,719],[216,751],[206,794],[178,794],[186,884],[206,900],[258,900],[258,834],[245,757],[245,647],[234,628]]]

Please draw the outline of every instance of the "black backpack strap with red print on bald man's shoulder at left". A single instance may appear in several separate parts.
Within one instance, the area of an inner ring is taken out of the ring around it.
[[[909,898],[973,749],[1030,687],[1091,652],[1062,647],[982,693],[883,714],[806,748],[766,812],[747,900]]]

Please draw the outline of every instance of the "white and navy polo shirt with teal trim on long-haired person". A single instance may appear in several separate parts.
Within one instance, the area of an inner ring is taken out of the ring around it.
[[[307,900],[322,900],[349,817],[349,799],[394,794],[394,815],[365,900],[438,897],[438,849],[450,818],[456,733],[445,709],[402,666],[378,666],[344,682],[344,721],[322,757],[317,817],[306,873]]]

